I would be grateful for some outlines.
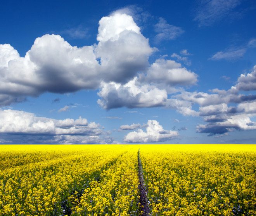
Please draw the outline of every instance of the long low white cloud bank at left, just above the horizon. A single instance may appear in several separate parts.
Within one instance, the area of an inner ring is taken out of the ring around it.
[[[18,110],[0,110],[0,133],[45,135],[100,135],[95,122],[85,118],[56,120],[36,117],[34,113]]]

